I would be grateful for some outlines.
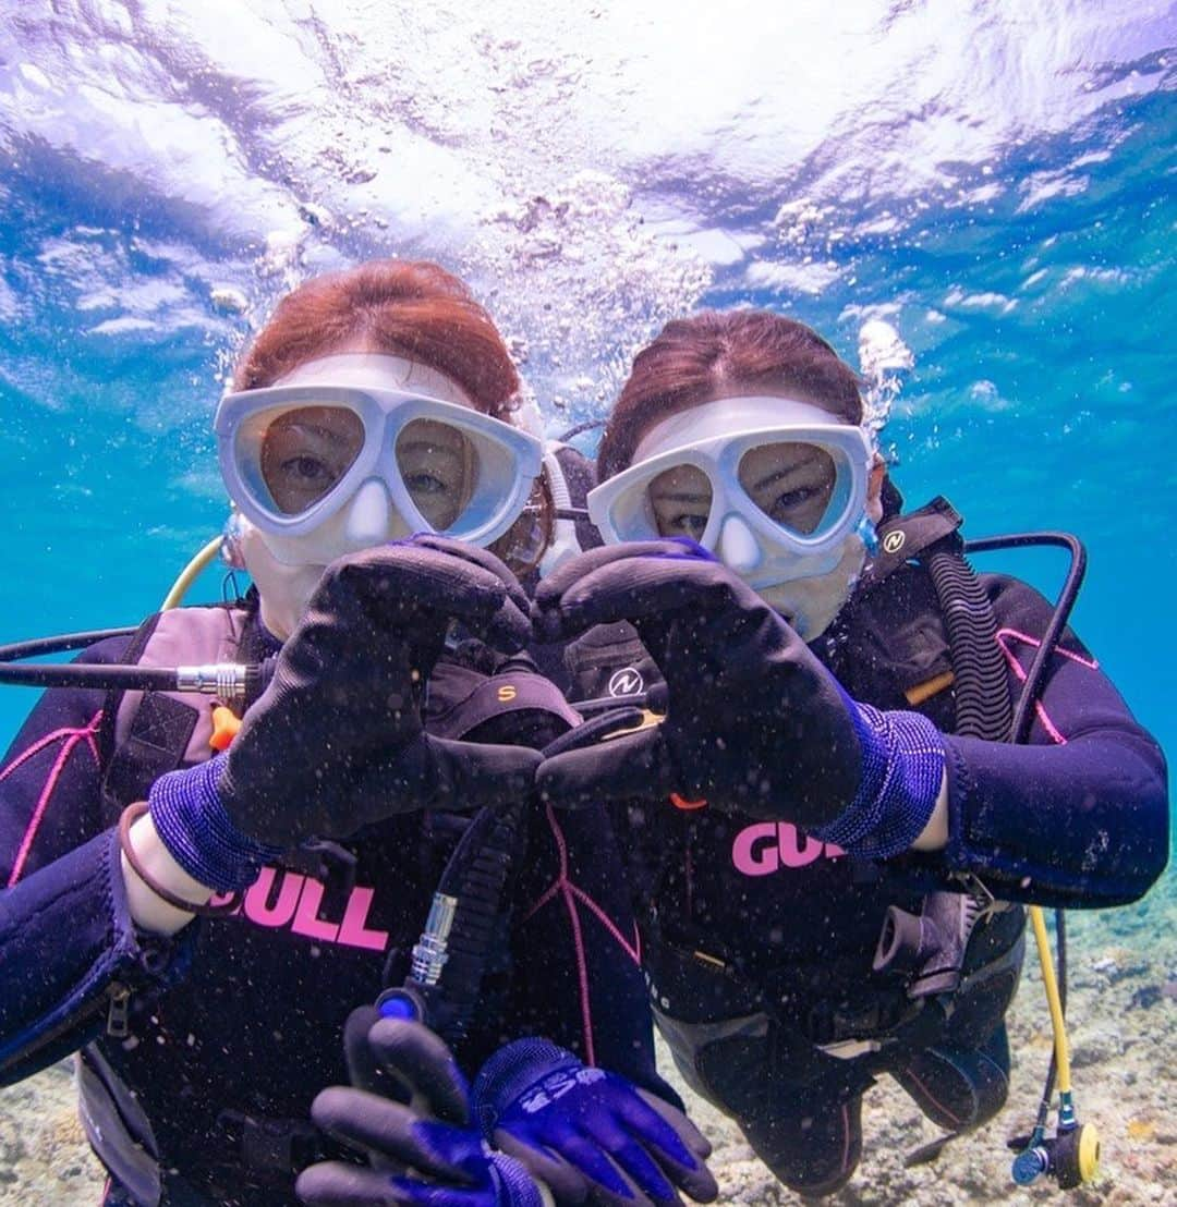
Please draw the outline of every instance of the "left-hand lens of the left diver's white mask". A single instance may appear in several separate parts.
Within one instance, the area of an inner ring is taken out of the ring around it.
[[[258,468],[274,506],[298,515],[319,502],[355,463],[363,421],[346,407],[298,407],[261,432]]]

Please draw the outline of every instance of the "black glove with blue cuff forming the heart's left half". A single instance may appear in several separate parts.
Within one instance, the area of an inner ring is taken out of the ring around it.
[[[176,862],[227,892],[310,835],[530,792],[534,751],[425,733],[424,686],[454,619],[507,652],[530,637],[526,596],[485,549],[416,536],[332,562],[228,752],[152,786]]]

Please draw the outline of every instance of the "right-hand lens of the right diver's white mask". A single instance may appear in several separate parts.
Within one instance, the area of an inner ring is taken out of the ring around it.
[[[740,457],[740,485],[780,527],[820,536],[841,512],[838,463],[817,444],[761,444]]]

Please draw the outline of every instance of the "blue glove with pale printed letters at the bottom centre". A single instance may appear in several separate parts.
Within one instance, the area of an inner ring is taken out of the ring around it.
[[[550,1186],[558,1201],[655,1207],[719,1193],[711,1145],[682,1112],[546,1039],[501,1048],[474,1080],[483,1136]]]

